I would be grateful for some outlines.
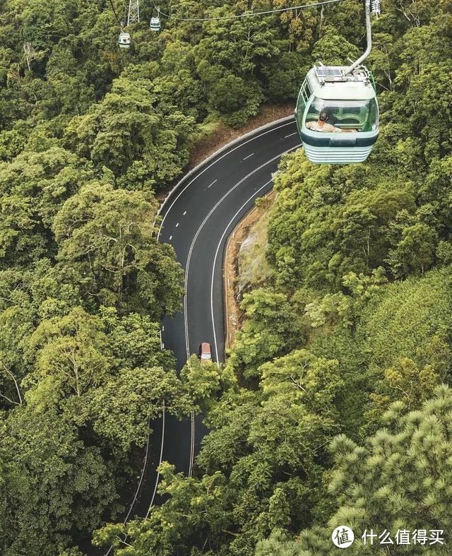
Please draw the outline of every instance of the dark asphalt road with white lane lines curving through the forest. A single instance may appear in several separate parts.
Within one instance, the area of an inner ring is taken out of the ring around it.
[[[221,150],[184,180],[162,211],[159,240],[172,244],[185,270],[184,308],[162,325],[165,348],[174,352],[178,370],[203,341],[215,361],[225,360],[222,259],[227,237],[266,194],[283,155],[300,146],[295,120],[267,129]],[[161,457],[191,475],[195,454],[206,433],[201,418],[179,422],[166,415]]]

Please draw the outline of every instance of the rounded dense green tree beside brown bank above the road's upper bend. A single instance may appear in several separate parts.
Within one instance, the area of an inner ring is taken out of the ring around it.
[[[153,190],[177,177],[186,164],[193,123],[179,111],[157,112],[145,82],[119,78],[99,105],[71,121],[66,142],[121,176],[124,186]]]

